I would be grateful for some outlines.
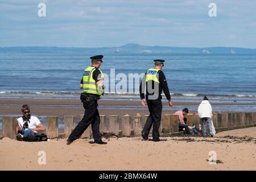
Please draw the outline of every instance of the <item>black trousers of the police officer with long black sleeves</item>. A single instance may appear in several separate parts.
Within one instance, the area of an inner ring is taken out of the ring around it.
[[[145,126],[142,132],[148,135],[153,125],[153,133],[152,133],[153,139],[158,139],[160,136],[159,127],[160,127],[161,114],[163,109],[162,100],[159,97],[156,100],[146,100],[146,101],[147,101],[148,111],[150,112],[150,115],[147,117],[147,121],[145,123]]]

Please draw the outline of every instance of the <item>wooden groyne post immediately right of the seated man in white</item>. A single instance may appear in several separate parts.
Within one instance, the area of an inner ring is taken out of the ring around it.
[[[49,138],[59,137],[58,125],[59,125],[59,117],[47,116],[47,122],[46,122],[47,137],[49,137]]]

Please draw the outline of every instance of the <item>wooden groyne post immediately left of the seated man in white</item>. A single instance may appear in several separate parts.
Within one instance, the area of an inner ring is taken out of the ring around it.
[[[2,126],[3,137],[16,139],[16,127],[18,126],[18,119],[14,117],[3,116]]]

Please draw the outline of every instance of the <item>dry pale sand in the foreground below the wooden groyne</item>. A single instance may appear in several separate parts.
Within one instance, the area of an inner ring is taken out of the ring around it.
[[[225,136],[229,137],[225,137]],[[214,138],[109,138],[106,145],[78,139],[28,143],[0,140],[0,170],[256,170],[256,127],[225,131]],[[38,152],[46,164],[38,164]],[[209,164],[209,151],[222,163]]]

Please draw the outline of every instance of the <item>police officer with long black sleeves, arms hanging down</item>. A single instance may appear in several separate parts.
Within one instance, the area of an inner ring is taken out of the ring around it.
[[[148,140],[148,134],[153,125],[152,141],[159,142],[159,127],[162,114],[162,96],[161,93],[164,91],[166,98],[168,100],[168,105],[172,107],[171,95],[166,81],[166,76],[162,71],[164,66],[164,60],[154,60],[155,68],[148,69],[145,73],[141,85],[139,87],[139,92],[142,99],[142,105],[148,106],[148,111],[150,115],[147,117],[147,121],[142,130],[142,138]],[[145,89],[146,87],[146,89]],[[146,97],[145,97],[146,90]]]

